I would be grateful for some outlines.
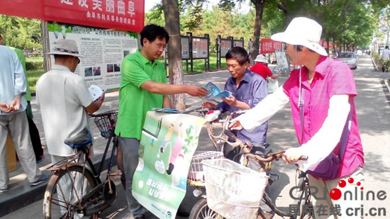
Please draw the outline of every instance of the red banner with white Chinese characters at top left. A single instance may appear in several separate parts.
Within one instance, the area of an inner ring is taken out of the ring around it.
[[[0,13],[139,33],[145,0],[0,0]]]

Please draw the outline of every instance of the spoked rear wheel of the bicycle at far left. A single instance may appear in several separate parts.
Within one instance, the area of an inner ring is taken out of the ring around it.
[[[76,163],[68,164],[67,169],[56,172],[50,178],[43,199],[43,218],[82,218],[83,206],[78,203],[95,186],[94,174],[89,169]]]

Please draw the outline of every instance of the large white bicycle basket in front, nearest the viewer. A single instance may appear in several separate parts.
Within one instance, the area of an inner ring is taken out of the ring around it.
[[[230,159],[202,162],[208,207],[225,218],[256,218],[267,186],[265,172],[256,172]]]

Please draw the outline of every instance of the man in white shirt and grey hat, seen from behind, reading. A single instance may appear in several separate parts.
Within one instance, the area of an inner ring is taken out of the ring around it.
[[[104,94],[94,102],[84,79],[73,72],[82,57],[76,41],[58,40],[57,46],[48,54],[54,55],[52,69],[38,79],[36,96],[42,113],[46,144],[52,162],[74,154],[74,149],[64,140],[90,130],[87,113],[99,110]]]

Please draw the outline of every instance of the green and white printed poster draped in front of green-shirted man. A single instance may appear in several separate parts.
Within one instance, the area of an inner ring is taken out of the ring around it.
[[[158,218],[176,218],[205,122],[188,114],[147,112],[133,176],[133,196]]]

